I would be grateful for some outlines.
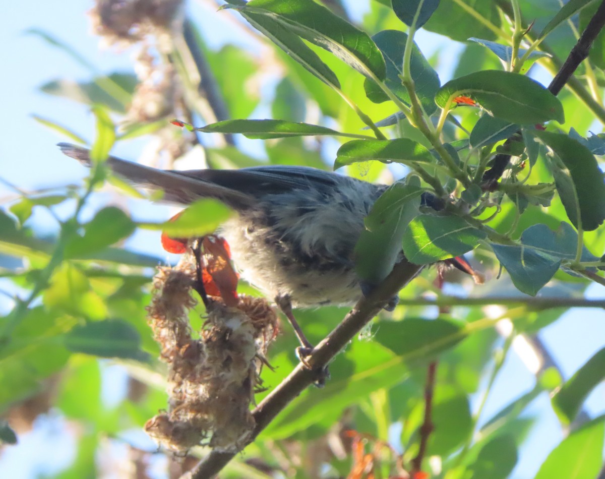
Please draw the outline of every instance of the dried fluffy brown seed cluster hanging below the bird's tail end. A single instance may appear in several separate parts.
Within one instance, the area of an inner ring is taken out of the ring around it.
[[[148,420],[145,431],[173,452],[202,442],[239,451],[255,425],[250,404],[277,317],[264,299],[238,296],[234,306],[209,296],[201,339],[192,339],[188,312],[196,278],[191,252],[155,276],[149,322],[169,366],[169,407]]]

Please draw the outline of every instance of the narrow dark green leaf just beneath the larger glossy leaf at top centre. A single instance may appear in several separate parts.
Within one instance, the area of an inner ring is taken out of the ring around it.
[[[244,4],[244,2],[241,2]],[[306,70],[333,88],[340,88],[336,74],[319,59],[317,54],[296,36],[289,28],[274,18],[255,13],[248,9],[239,10],[241,15],[258,31],[284,50]]]

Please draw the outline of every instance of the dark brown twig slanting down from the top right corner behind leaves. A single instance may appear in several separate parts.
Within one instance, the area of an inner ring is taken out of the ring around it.
[[[601,2],[601,5],[599,5],[597,12],[590,19],[590,22],[581,34],[580,39],[578,39],[574,48],[572,48],[571,52],[569,52],[567,59],[559,69],[558,73],[555,75],[554,79],[552,79],[551,84],[548,86],[548,90],[552,94],[557,95],[561,91],[563,86],[569,81],[581,62],[586,59],[592,43],[595,41],[595,38],[604,25],[605,0]],[[519,134],[520,131],[517,131],[513,137]],[[512,141],[510,138],[509,140],[506,140],[503,148],[508,149],[511,145],[511,142]],[[492,167],[483,175],[484,189],[491,190],[495,187],[495,183],[500,179],[500,177],[502,177],[502,174],[508,166],[509,161],[511,161],[511,155],[501,153],[495,156]]]

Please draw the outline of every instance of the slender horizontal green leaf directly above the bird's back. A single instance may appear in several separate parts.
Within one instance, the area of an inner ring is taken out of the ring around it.
[[[260,140],[308,135],[359,137],[359,135],[342,133],[325,126],[287,122],[286,120],[224,120],[201,128],[194,128],[194,130],[204,133],[241,133],[246,138]]]

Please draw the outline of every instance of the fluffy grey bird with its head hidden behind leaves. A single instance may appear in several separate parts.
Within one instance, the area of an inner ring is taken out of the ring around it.
[[[90,166],[88,149],[69,143],[59,143],[59,148]],[[312,345],[292,307],[352,305],[361,299],[353,250],[364,218],[387,186],[302,166],[165,171],[115,157],[107,165],[131,183],[162,191],[164,201],[189,204],[215,198],[234,209],[238,215],[218,233],[231,247],[241,276],[275,299],[303,347]],[[428,193],[422,202],[442,207]],[[460,267],[457,259],[451,261]]]

